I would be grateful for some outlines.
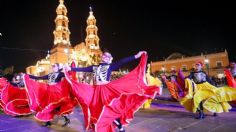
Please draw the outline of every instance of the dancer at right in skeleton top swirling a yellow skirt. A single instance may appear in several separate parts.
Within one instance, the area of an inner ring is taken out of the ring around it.
[[[188,111],[196,113],[197,119],[203,119],[203,111],[214,113],[228,112],[231,109],[228,101],[236,99],[236,89],[231,87],[216,88],[210,84],[208,75],[202,70],[203,63],[195,63],[196,70],[185,79],[185,87],[188,88],[188,94],[180,100]]]

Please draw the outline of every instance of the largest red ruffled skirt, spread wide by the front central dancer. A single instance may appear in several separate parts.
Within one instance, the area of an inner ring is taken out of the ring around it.
[[[95,131],[114,131],[113,121],[116,118],[120,118],[123,125],[128,124],[147,99],[160,93],[159,87],[147,86],[146,61],[145,54],[133,71],[105,85],[79,83],[66,74],[82,107],[86,129],[92,127]]]

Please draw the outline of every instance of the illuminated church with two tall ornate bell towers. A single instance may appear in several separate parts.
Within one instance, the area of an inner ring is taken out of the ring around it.
[[[64,0],[59,0],[56,8],[54,45],[50,53],[42,60],[37,61],[36,65],[26,68],[26,72],[34,75],[45,75],[50,72],[50,67],[54,63],[70,64],[73,61],[80,66],[97,64],[100,62],[102,51],[99,46],[98,28],[96,19],[90,7],[87,18],[85,42],[75,44],[70,43],[69,19]]]

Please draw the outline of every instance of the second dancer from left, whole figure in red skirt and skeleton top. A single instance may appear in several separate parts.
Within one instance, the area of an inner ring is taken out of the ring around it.
[[[30,107],[36,112],[35,117],[45,122],[43,126],[52,125],[51,120],[55,115],[64,117],[67,126],[71,113],[77,101],[70,94],[70,85],[63,79],[64,73],[59,69],[59,64],[52,65],[52,73],[45,76],[25,75],[24,81],[30,98]],[[35,80],[48,80],[48,83],[40,83]]]

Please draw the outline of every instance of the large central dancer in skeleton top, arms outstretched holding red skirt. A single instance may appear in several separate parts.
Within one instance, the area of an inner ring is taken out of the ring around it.
[[[140,64],[125,76],[110,81],[113,70],[135,59],[142,58]],[[145,68],[147,61],[146,52],[139,52],[134,56],[124,58],[112,63],[113,57],[109,52],[104,52],[102,62],[85,68],[72,68],[72,71],[94,73],[94,85],[78,83],[69,77],[73,92],[77,97],[83,113],[85,128],[95,131],[114,131],[114,124],[119,131],[125,131],[123,125],[128,124],[133,114],[143,103],[160,93],[156,86],[147,86]]]

